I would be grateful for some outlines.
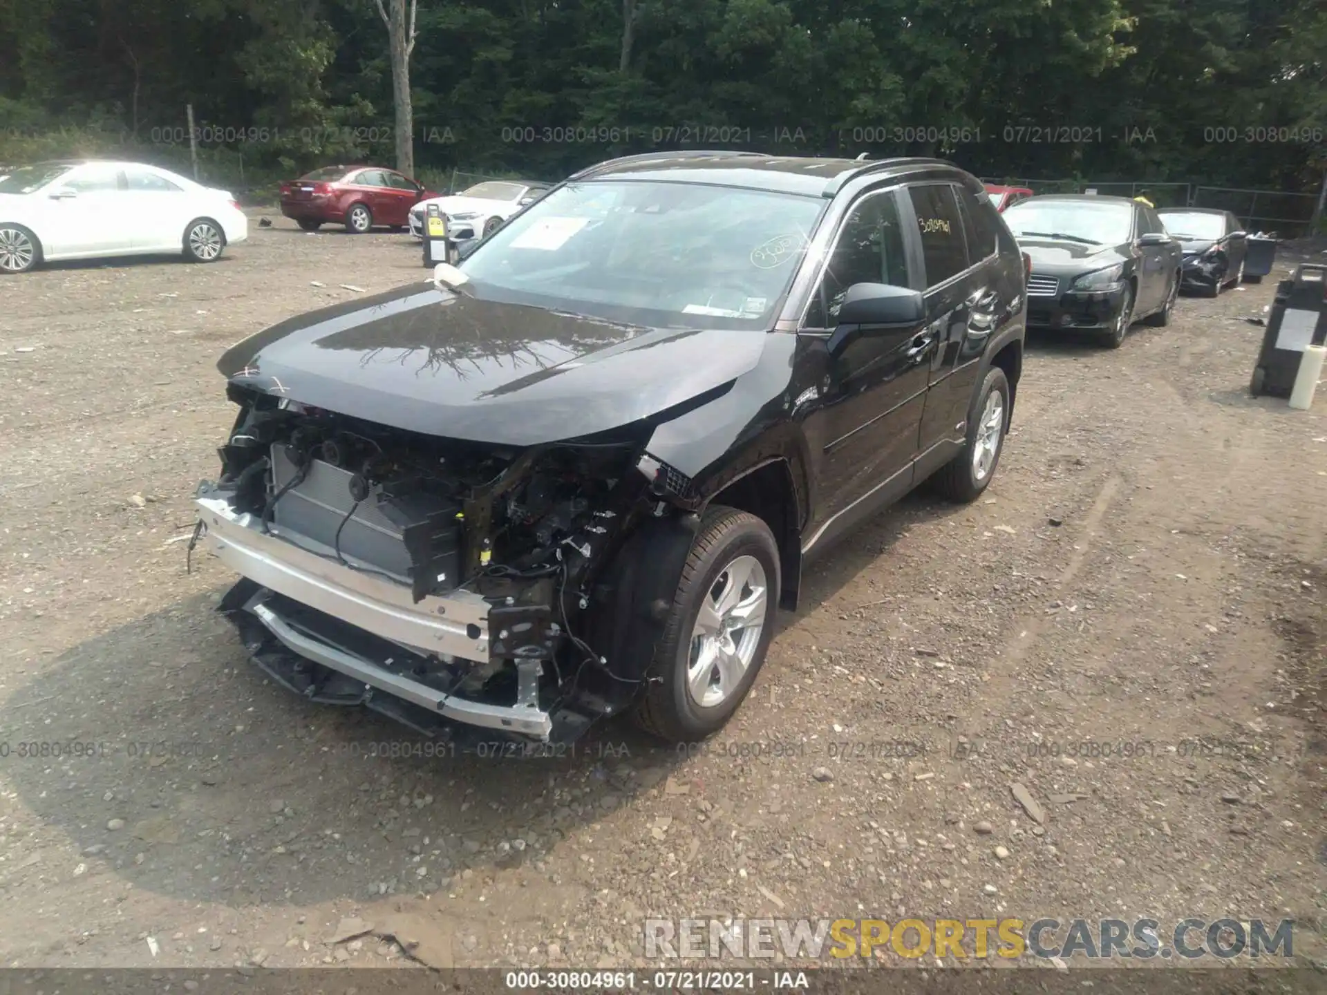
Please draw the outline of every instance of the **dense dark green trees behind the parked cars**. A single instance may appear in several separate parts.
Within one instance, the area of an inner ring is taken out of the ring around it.
[[[1316,192],[1320,0],[418,0],[421,170],[942,154],[982,175]],[[133,146],[239,183],[394,162],[374,0],[0,0],[0,161]]]

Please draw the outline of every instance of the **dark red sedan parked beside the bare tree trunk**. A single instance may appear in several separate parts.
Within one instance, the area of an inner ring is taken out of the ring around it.
[[[281,214],[304,231],[344,224],[352,235],[374,226],[402,228],[410,208],[438,196],[395,170],[378,166],[324,166],[281,184]]]

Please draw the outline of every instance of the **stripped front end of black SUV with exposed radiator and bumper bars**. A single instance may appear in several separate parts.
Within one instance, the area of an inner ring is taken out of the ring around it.
[[[593,618],[616,552],[686,503],[646,429],[518,450],[231,397],[199,539],[242,576],[220,609],[279,683],[429,735],[559,742],[646,679],[648,650],[592,645],[622,645]]]

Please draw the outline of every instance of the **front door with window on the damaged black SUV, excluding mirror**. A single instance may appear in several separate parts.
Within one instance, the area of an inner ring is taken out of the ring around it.
[[[906,490],[917,455],[934,338],[906,328],[843,326],[839,306],[859,283],[913,287],[898,191],[871,191],[848,212],[812,297],[803,334],[823,350],[823,382],[808,435],[821,446],[819,532],[857,504]],[[837,528],[835,529],[837,531]]]

